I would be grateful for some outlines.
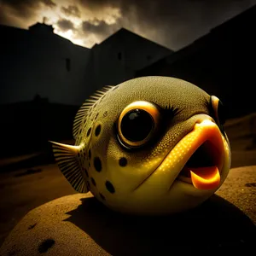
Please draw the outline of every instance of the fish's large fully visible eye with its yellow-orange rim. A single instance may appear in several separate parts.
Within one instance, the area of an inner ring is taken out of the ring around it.
[[[119,142],[128,148],[142,147],[154,136],[160,120],[159,108],[151,102],[132,102],[119,115]]]

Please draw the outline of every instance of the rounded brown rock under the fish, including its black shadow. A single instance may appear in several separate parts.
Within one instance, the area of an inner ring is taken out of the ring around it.
[[[256,166],[232,169],[216,195],[169,217],[125,216],[90,193],[67,195],[28,212],[0,255],[247,255],[256,247],[255,177]]]

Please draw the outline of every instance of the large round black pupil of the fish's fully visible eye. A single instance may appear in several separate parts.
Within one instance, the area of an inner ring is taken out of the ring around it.
[[[132,109],[121,121],[123,136],[131,142],[143,141],[154,128],[154,119],[143,109]]]

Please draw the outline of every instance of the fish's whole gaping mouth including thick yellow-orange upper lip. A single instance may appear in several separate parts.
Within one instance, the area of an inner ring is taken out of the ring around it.
[[[169,183],[168,190],[175,182],[188,183],[195,189],[217,189],[223,165],[224,137],[216,123],[204,119],[172,148],[152,176],[163,173],[166,179],[162,184]]]

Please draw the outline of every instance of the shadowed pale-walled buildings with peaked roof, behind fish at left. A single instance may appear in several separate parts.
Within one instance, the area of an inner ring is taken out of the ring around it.
[[[0,103],[31,101],[80,105],[104,85],[119,84],[172,53],[121,28],[91,49],[73,44],[37,23],[28,30],[0,26]]]

